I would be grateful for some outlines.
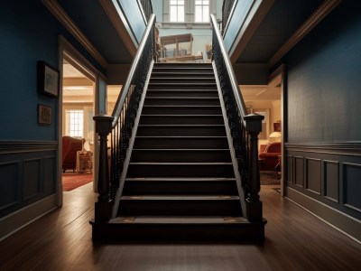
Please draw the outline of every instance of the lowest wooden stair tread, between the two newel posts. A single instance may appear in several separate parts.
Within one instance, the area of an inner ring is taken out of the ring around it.
[[[142,223],[142,224],[243,224],[249,223],[243,217],[222,216],[134,216],[117,217],[109,223]]]

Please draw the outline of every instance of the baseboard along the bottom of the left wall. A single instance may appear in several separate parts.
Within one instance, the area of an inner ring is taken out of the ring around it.
[[[34,220],[38,220],[51,210],[58,207],[58,196],[52,194],[49,197],[36,201],[31,205],[24,207],[21,210],[16,210],[13,213],[0,219],[0,241],[8,238],[16,231],[23,229]]]

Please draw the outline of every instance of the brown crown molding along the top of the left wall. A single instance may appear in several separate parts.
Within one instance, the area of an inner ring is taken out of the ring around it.
[[[79,29],[78,25],[74,23],[69,14],[56,0],[42,0],[42,4],[45,5],[51,14],[53,14],[58,21],[71,33],[81,45],[91,54],[92,57],[104,68],[107,66],[106,59],[101,55],[97,48],[88,40],[87,36]]]

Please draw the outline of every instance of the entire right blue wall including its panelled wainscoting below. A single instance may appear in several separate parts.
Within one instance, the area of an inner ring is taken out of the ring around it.
[[[340,215],[361,220],[358,5],[341,2],[281,61],[287,69],[282,177],[293,201],[361,239],[360,225]]]

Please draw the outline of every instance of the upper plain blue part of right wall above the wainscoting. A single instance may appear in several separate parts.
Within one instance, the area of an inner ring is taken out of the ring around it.
[[[361,16],[344,1],[283,60],[288,141],[360,141]]]

